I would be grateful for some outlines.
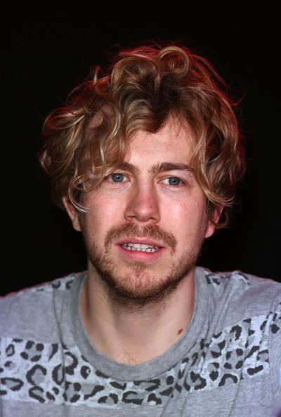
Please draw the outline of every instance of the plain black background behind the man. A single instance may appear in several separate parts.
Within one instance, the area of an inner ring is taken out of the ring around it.
[[[228,230],[208,239],[200,264],[280,279],[280,33],[275,3],[186,3],[185,8],[158,6],[154,12],[143,3],[124,11],[107,4],[99,10],[75,6],[62,11],[47,5],[42,11],[17,8],[2,16],[1,293],[86,267],[81,236],[51,203],[48,180],[37,163],[41,126],[93,65],[106,63],[118,45],[146,39],[182,41],[211,60],[235,98],[243,98],[240,126],[248,171],[240,211]]]

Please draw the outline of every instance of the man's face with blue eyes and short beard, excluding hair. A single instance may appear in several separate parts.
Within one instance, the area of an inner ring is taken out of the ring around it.
[[[145,303],[192,275],[205,237],[214,232],[206,199],[188,163],[192,134],[178,121],[157,133],[139,131],[124,164],[85,195],[89,209],[72,223],[84,234],[89,258],[108,293]]]

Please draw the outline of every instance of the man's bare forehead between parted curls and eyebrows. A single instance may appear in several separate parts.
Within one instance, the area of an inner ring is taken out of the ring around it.
[[[138,131],[129,140],[124,157],[133,163],[141,159],[147,164],[159,161],[188,163],[194,138],[191,129],[178,119],[168,119],[156,133]]]

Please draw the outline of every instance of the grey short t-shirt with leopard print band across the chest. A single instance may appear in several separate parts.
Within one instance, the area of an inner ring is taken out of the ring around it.
[[[280,284],[197,267],[188,329],[162,355],[129,365],[87,336],[85,279],[71,274],[0,300],[1,417],[277,416]]]

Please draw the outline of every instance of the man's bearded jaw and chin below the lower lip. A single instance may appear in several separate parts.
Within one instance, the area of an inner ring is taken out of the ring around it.
[[[194,258],[185,256],[176,263],[169,263],[169,267],[166,263],[153,265],[132,260],[123,265],[109,259],[106,264],[91,261],[92,273],[98,273],[91,282],[93,286],[98,285],[107,302],[118,309],[144,312],[169,302],[179,284],[190,280],[194,263]],[[99,291],[93,289],[93,293]]]

